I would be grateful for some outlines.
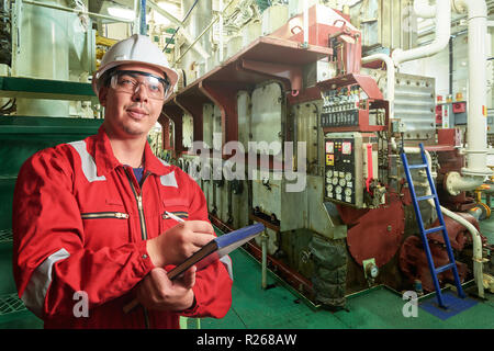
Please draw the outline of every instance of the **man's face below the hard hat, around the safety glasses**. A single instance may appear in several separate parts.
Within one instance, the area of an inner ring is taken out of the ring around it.
[[[141,71],[165,78],[161,70],[146,65],[127,64],[117,70]],[[136,75],[135,81],[144,81]],[[137,84],[135,92],[122,91],[112,87],[100,89],[100,102],[105,107],[104,126],[110,136],[135,138],[146,136],[158,121],[164,99],[153,98],[144,84]]]

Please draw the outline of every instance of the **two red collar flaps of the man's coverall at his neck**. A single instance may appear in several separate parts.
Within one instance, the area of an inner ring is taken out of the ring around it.
[[[96,135],[94,146],[88,146],[88,151],[90,154],[91,149],[94,150],[94,162],[98,169],[98,177],[105,176],[113,171],[116,167],[122,166],[122,163],[115,158],[113,154],[112,146],[110,144],[110,138],[101,125],[98,129],[98,135]],[[156,176],[165,176],[172,171],[170,165],[165,165],[164,161],[158,159],[151,151],[149,143],[146,141],[144,148],[144,159],[146,160],[144,166],[144,171],[149,171]]]

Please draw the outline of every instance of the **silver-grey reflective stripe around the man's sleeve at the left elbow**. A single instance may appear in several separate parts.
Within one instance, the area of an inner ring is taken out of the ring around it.
[[[70,257],[70,253],[68,253],[64,248],[48,256],[48,258],[46,258],[43,263],[34,270],[30,282],[22,294],[21,299],[24,302],[24,305],[40,318],[42,318],[43,315],[46,292],[53,281],[53,265],[68,257]]]

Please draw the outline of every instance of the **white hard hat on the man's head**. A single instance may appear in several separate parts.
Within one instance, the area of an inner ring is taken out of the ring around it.
[[[169,94],[173,91],[178,75],[169,67],[167,57],[148,36],[134,34],[123,39],[104,54],[100,68],[92,77],[92,90],[98,95],[98,80],[109,69],[125,64],[145,64],[162,70],[170,81]]]

